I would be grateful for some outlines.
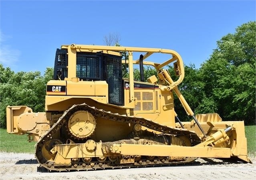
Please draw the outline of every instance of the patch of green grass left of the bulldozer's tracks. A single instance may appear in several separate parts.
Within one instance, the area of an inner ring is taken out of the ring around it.
[[[28,142],[26,135],[8,134],[0,129],[0,152],[34,153],[36,142]]]

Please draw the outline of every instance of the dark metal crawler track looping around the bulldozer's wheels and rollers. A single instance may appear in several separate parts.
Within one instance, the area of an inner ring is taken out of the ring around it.
[[[188,139],[191,140],[192,146],[199,144],[201,142],[200,138],[196,133],[187,131],[184,129],[178,129],[178,128],[171,128],[163,125],[159,125],[158,123],[155,123],[151,120],[140,118],[140,117],[130,117],[127,115],[119,115],[119,114],[113,114],[111,112],[104,111],[102,109],[97,109],[95,107],[90,107],[87,104],[81,104],[81,105],[73,105],[70,109],[65,111],[63,115],[58,119],[57,123],[55,123],[48,131],[45,133],[44,136],[40,138],[40,140],[36,144],[36,159],[38,160],[39,164],[43,166],[44,168],[48,170],[55,170],[55,171],[70,171],[70,170],[97,170],[97,169],[115,169],[115,168],[131,168],[131,167],[146,167],[146,166],[166,166],[171,164],[185,164],[189,163],[195,160],[195,158],[183,158],[182,160],[174,160],[170,161],[168,159],[161,159],[161,158],[155,158],[151,159],[150,161],[148,159],[142,158],[140,162],[135,162],[132,165],[116,165],[115,163],[111,161],[105,161],[104,163],[100,163],[97,161],[92,161],[90,164],[85,163],[78,163],[77,167],[74,166],[67,166],[63,167],[53,167],[50,166],[50,162],[48,162],[44,156],[42,155],[42,147],[45,142],[52,139],[52,136],[60,130],[61,127],[65,126],[67,121],[69,120],[69,117],[75,113],[76,111],[89,111],[92,115],[96,117],[102,117],[103,119],[109,119],[111,121],[117,121],[122,123],[139,123],[144,127],[147,127],[148,129],[159,131],[161,133],[165,133],[168,135],[177,135],[177,136],[185,136]],[[93,166],[92,166],[93,163]]]

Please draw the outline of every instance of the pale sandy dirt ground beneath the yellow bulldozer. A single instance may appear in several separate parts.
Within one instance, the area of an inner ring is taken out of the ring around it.
[[[256,158],[251,158],[253,164],[220,160],[214,158],[199,158],[193,164],[124,168],[115,170],[79,171],[79,172],[40,172],[34,154],[0,153],[1,180],[163,180],[163,179],[256,179]]]

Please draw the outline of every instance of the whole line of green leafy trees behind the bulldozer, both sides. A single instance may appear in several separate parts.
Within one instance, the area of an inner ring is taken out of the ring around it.
[[[185,65],[185,77],[179,85],[182,95],[195,113],[218,113],[224,121],[245,121],[255,125],[256,120],[256,22],[238,26],[233,34],[217,41],[217,48],[200,68]],[[173,67],[168,66],[173,79]],[[125,68],[123,68],[125,69]],[[157,75],[155,69],[145,66],[145,79]],[[44,111],[46,83],[53,77],[53,68],[17,72],[0,64],[0,126],[6,127],[6,106],[27,105],[34,112]],[[134,78],[140,80],[139,69]],[[175,111],[182,121],[189,121],[177,98]]]

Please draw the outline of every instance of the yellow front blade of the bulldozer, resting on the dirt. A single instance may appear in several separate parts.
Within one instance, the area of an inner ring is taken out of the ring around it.
[[[244,121],[222,121],[216,113],[197,115],[197,118],[207,138],[204,138],[194,120],[183,122],[186,129],[195,131],[202,137],[202,143],[197,144],[197,147],[229,148],[231,158],[252,163],[247,154]],[[203,154],[199,155],[199,157],[203,156]]]

